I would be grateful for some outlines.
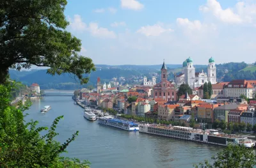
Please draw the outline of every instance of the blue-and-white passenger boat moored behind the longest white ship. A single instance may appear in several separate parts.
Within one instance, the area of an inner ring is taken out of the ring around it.
[[[107,116],[99,118],[99,124],[113,126],[115,128],[120,128],[122,130],[127,131],[140,130],[139,125],[137,123],[133,123],[131,121],[124,121],[122,119],[115,119]]]

